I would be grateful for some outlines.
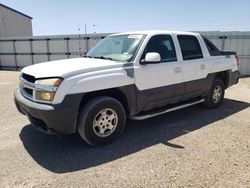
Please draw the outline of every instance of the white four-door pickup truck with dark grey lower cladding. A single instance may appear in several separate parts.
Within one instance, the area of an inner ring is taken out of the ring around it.
[[[239,80],[238,65],[235,52],[219,51],[198,33],[114,34],[85,57],[25,67],[15,104],[43,132],[78,132],[100,146],[121,135],[127,117],[220,106]]]

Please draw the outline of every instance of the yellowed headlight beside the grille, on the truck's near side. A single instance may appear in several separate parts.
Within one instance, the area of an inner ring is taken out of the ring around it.
[[[58,86],[61,84],[61,78],[49,78],[49,79],[41,79],[36,80],[33,97],[38,101],[52,101],[55,97],[56,90]]]

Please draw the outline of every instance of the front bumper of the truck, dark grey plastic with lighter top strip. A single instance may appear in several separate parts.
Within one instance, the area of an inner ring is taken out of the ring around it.
[[[36,129],[48,134],[70,134],[76,132],[82,96],[82,94],[67,95],[62,103],[48,105],[26,99],[20,89],[17,89],[14,100],[18,111],[27,115]]]

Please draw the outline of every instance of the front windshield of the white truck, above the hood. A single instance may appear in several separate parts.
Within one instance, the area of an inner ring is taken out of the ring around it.
[[[141,34],[108,36],[88,53],[87,57],[130,61],[143,38]]]

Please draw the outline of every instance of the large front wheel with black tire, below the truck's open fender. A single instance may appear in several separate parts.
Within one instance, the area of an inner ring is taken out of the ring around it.
[[[78,117],[78,133],[92,146],[114,141],[125,128],[126,113],[122,104],[111,97],[97,97],[85,104]]]

